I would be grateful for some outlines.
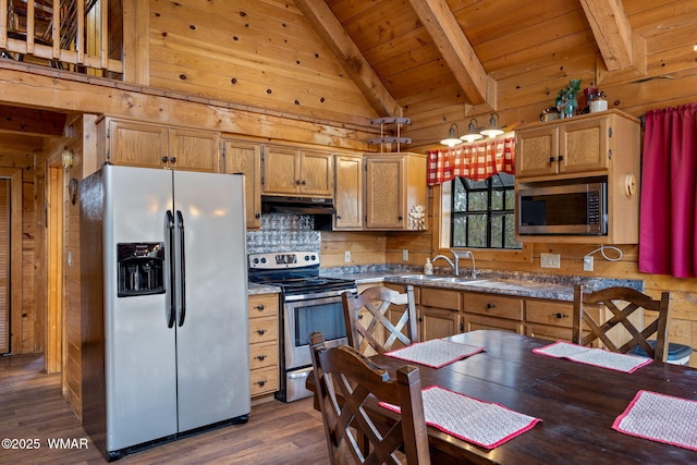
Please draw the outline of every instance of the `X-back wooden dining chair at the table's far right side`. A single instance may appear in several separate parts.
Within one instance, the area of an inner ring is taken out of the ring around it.
[[[576,285],[574,289],[573,341],[580,345],[588,345],[595,340],[600,340],[609,351],[623,354],[640,346],[650,358],[667,362],[669,303],[669,292],[661,293],[660,299],[653,299],[631,287],[608,287],[584,294],[583,285]],[[589,313],[584,311],[584,305],[603,305],[612,316],[600,323]],[[644,320],[647,317],[643,314],[635,314],[640,310],[657,313],[655,319],[649,316],[651,322],[644,325],[644,328],[637,328],[632,322],[633,316],[634,320]],[[615,344],[608,334],[608,331],[617,325],[625,328],[631,335],[631,339],[622,344]],[[588,332],[584,334],[585,329]],[[656,338],[655,346],[649,344],[649,338],[653,335]]]

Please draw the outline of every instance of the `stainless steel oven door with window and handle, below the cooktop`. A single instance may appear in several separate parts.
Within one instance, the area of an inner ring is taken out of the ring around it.
[[[341,294],[352,290],[320,294],[288,295],[283,305],[283,350],[285,371],[313,364],[309,334],[318,331],[331,344],[346,344],[346,323]],[[353,290],[355,292],[355,289]]]

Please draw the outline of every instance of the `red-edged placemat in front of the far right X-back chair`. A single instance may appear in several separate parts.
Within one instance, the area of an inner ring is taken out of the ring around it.
[[[602,348],[584,347],[565,341],[558,341],[543,347],[533,348],[533,352],[624,372],[634,372],[652,362],[651,358],[638,355],[617,354]]]

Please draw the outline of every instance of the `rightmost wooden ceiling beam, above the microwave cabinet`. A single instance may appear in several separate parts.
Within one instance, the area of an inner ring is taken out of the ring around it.
[[[646,74],[645,39],[632,30],[620,0],[580,0],[608,71]]]

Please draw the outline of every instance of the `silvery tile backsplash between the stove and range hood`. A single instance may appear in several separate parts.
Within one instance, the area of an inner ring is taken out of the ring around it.
[[[311,215],[268,213],[261,229],[247,232],[247,253],[319,250],[321,233]]]

